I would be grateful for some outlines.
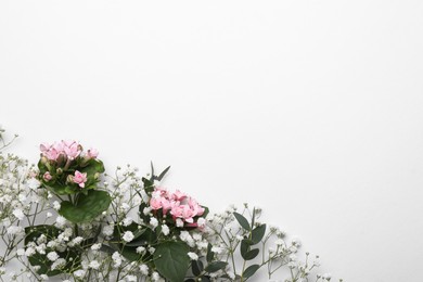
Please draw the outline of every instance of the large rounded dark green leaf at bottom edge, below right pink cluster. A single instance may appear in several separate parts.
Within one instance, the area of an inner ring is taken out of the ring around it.
[[[154,252],[154,265],[164,278],[182,282],[190,266],[189,246],[183,242],[164,242]]]

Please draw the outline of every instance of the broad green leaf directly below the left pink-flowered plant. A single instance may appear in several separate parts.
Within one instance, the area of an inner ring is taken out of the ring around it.
[[[59,214],[74,223],[87,222],[106,210],[111,202],[112,198],[107,192],[89,190],[87,195],[79,195],[76,205],[70,204],[68,201],[63,201]]]

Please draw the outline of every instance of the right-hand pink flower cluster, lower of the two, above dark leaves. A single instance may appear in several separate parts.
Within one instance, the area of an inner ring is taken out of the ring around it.
[[[183,227],[185,223],[189,227],[202,227],[205,222],[204,220],[194,222],[194,217],[200,217],[204,214],[204,207],[179,190],[171,193],[166,189],[155,188],[150,200],[150,207],[153,210],[162,208],[163,215],[169,213],[176,221],[177,227]]]

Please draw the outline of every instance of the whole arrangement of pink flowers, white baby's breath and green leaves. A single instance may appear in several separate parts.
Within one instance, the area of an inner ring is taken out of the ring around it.
[[[161,185],[169,167],[104,172],[99,152],[76,141],[40,145],[37,166],[13,154],[0,129],[0,281],[330,281],[319,257],[244,204],[210,214]],[[13,140],[12,140],[13,141]],[[8,269],[14,264],[13,270]],[[18,264],[21,267],[16,267]],[[277,273],[279,273],[278,271]]]

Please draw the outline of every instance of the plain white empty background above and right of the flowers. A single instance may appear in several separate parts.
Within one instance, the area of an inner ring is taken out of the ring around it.
[[[422,1],[2,1],[0,120],[171,165],[350,282],[420,282]]]

